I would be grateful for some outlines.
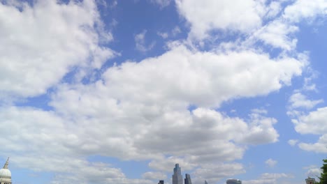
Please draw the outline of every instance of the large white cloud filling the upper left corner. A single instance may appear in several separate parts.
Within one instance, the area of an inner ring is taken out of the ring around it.
[[[48,0],[22,7],[0,3],[1,100],[41,95],[71,68],[99,68],[114,55],[99,46],[100,37],[112,37],[101,29],[93,1]]]

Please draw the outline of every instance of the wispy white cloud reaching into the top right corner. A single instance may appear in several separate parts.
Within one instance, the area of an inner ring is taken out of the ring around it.
[[[266,16],[277,15],[280,10],[280,2],[272,2]],[[267,45],[286,51],[294,50],[297,43],[294,33],[299,31],[298,22],[307,20],[310,23],[317,17],[326,14],[327,3],[325,1],[294,1],[291,5],[286,6],[280,17],[255,31],[253,36]]]

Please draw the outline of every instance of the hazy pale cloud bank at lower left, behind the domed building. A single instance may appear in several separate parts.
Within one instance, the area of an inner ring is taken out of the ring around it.
[[[0,118],[1,125],[8,127],[1,129],[0,142],[7,145],[1,155],[10,155],[10,162],[20,168],[54,172],[56,176],[52,183],[151,183],[131,180],[120,169],[101,162],[87,162],[80,157],[82,152],[74,146],[90,145],[88,138],[79,139],[78,132],[82,129],[76,130],[72,122],[60,118],[55,112],[2,107]]]

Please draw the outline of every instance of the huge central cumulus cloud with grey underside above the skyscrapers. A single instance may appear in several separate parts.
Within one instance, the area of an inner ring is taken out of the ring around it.
[[[277,121],[266,117],[266,111],[254,110],[242,119],[208,107],[275,91],[289,85],[302,67],[296,59],[274,61],[249,51],[217,54],[178,46],[157,58],[108,68],[92,84],[63,84],[50,105],[78,123],[80,128],[71,131],[79,138],[68,146],[80,154],[152,160],[149,166],[157,171],[171,171],[176,162],[184,169],[201,169],[212,160],[242,158],[244,144],[272,143],[279,136],[273,128]],[[275,77],[264,77],[269,72]],[[190,104],[204,107],[189,112]]]

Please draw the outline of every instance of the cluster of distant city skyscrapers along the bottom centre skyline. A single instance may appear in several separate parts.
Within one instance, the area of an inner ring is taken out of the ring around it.
[[[183,176],[182,176],[182,172],[180,171],[180,164],[175,164],[174,174],[172,178],[173,178],[172,184],[183,184]],[[158,184],[164,184],[164,181],[159,181]],[[184,184],[192,184],[191,176],[189,174],[185,174]],[[207,181],[205,181],[205,184],[208,184]],[[226,184],[242,184],[242,181],[238,179],[228,179],[226,181]]]

